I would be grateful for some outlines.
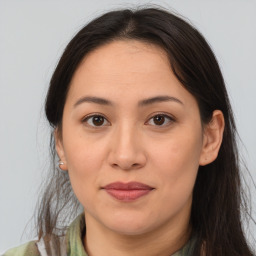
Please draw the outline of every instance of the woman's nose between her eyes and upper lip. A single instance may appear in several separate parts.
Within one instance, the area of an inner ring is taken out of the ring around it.
[[[114,131],[109,152],[109,164],[116,169],[133,170],[146,164],[142,138],[136,127],[123,125]]]

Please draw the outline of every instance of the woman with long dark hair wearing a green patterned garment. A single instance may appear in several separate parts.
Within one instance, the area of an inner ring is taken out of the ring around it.
[[[5,255],[253,255],[224,80],[187,22],[154,8],[93,20],[65,49],[45,111],[62,171],[38,241]]]

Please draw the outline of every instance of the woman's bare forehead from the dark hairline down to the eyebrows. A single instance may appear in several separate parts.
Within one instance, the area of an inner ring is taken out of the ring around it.
[[[72,78],[68,98],[88,94],[125,101],[189,93],[173,74],[163,49],[126,40],[101,46],[83,59]]]

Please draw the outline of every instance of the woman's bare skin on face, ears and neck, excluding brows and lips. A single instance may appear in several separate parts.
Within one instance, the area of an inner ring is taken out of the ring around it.
[[[159,95],[180,102],[138,106]],[[77,103],[85,96],[114,106]],[[89,114],[105,119],[97,126],[93,118],[85,119]],[[159,114],[170,118],[162,116],[159,124],[153,118]],[[179,250],[190,236],[198,167],[218,155],[221,111],[202,125],[195,98],[174,76],[164,51],[129,40],[85,57],[72,78],[62,121],[62,130],[55,132],[56,150],[84,206],[89,255],[169,256]],[[101,189],[117,181],[137,181],[154,190],[123,202]]]

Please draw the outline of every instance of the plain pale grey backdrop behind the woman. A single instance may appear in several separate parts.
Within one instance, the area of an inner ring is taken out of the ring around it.
[[[235,112],[241,154],[256,180],[256,1],[0,0],[0,253],[34,239],[30,220],[49,162],[43,103],[64,47],[103,12],[144,3],[184,15],[212,46]],[[254,199],[254,218],[255,209]]]

